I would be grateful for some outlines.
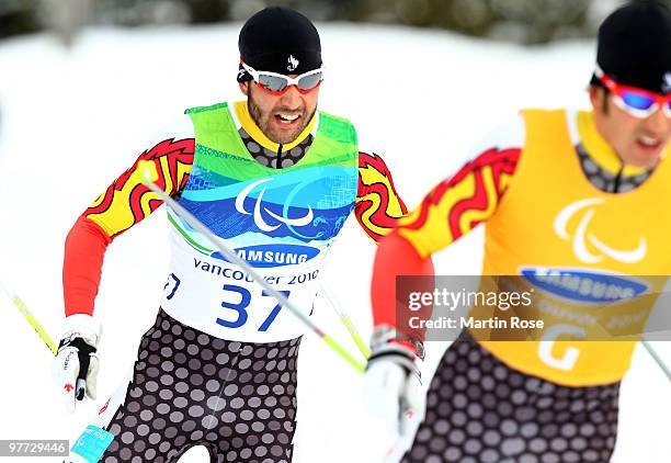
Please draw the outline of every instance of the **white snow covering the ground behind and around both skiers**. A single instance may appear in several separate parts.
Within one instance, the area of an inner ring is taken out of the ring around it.
[[[239,98],[239,26],[95,29],[69,50],[46,35],[0,43],[0,273],[54,337],[62,316],[60,267],[69,227],[158,127],[184,108]],[[356,122],[362,144],[384,154],[410,206],[465,160],[478,136],[516,109],[588,104],[591,42],[523,49],[439,31],[319,29],[328,67],[320,106]],[[349,222],[326,279],[367,338],[374,246],[357,228]],[[477,274],[481,232],[442,252],[439,271]],[[162,211],[110,248],[96,306],[104,325],[101,399],[73,416],[57,402],[48,351],[0,296],[0,439],[79,436],[152,324],[167,250]],[[318,307],[320,325],[354,351],[333,312],[323,302]],[[671,363],[670,345],[657,347]],[[429,346],[428,373],[444,348]],[[296,461],[379,461],[387,442],[364,411],[361,376],[311,336],[299,364]],[[621,406],[614,461],[668,462],[671,384],[640,348]],[[181,461],[207,459],[194,449]]]

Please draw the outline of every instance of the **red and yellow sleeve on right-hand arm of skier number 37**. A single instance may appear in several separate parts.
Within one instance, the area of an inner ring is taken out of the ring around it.
[[[364,232],[378,242],[407,213],[383,158],[374,153],[359,153],[359,191],[354,215]]]

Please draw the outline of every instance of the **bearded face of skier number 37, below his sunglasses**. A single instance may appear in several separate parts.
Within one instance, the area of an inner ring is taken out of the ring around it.
[[[300,93],[292,86],[276,95],[250,81],[240,83],[240,90],[247,95],[249,113],[261,132],[280,145],[292,143],[300,135],[315,115],[319,98],[319,87]]]

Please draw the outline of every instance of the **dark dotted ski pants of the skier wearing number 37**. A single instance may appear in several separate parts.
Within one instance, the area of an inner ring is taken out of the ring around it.
[[[104,428],[114,440],[100,461],[174,462],[205,445],[216,463],[291,462],[299,342],[227,341],[161,309]]]

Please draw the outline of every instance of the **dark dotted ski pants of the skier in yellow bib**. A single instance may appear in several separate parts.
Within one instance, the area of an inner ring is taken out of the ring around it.
[[[606,463],[619,383],[566,387],[512,370],[464,332],[445,352],[402,463]]]

